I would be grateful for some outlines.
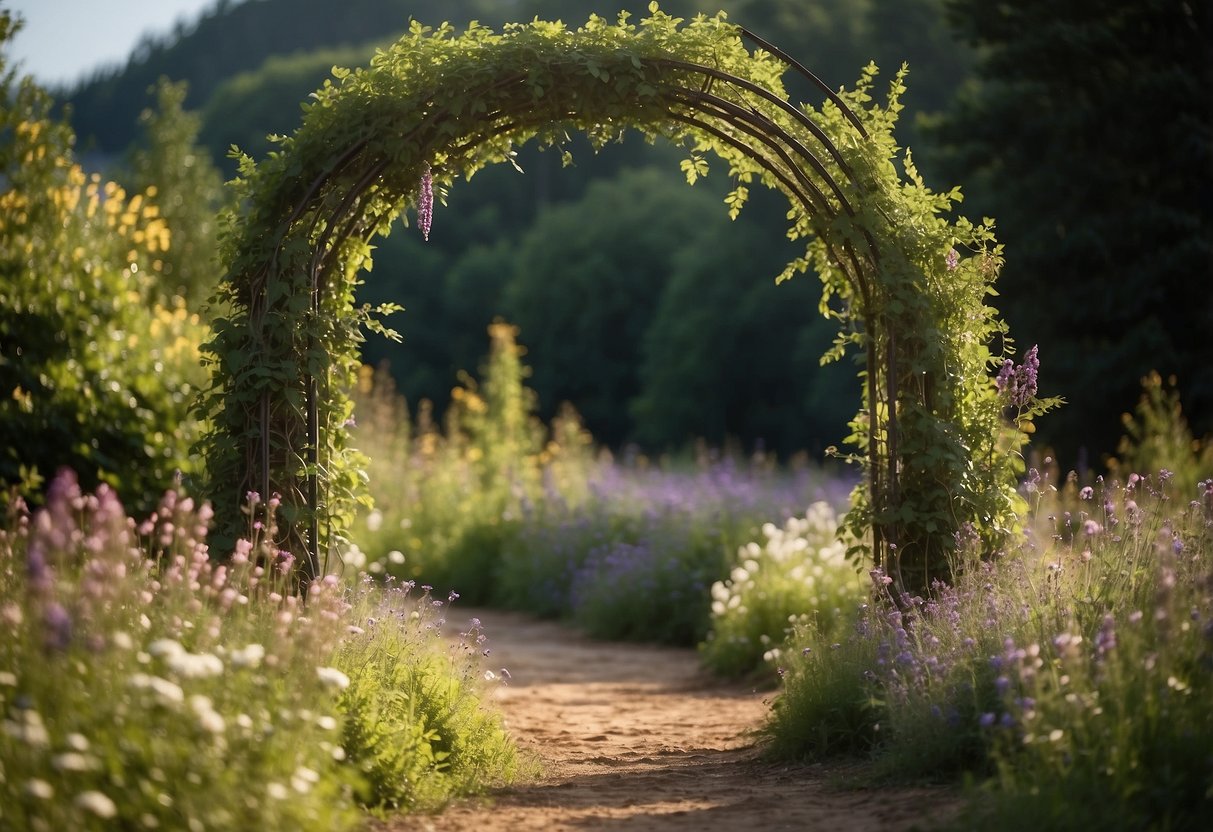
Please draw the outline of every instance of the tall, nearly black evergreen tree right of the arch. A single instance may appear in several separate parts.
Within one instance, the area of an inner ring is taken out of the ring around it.
[[[981,82],[941,125],[943,164],[998,220],[1010,331],[1070,403],[1041,439],[1097,461],[1155,369],[1213,428],[1213,4],[947,5]]]

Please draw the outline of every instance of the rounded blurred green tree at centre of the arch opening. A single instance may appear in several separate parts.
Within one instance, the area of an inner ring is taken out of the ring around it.
[[[626,405],[640,393],[639,353],[657,326],[672,258],[711,250],[729,233],[713,199],[676,190],[653,169],[592,183],[583,199],[540,213],[518,243],[502,297],[529,336],[540,399],[575,401],[599,441],[630,439]],[[684,441],[688,431],[694,426],[659,437]]]

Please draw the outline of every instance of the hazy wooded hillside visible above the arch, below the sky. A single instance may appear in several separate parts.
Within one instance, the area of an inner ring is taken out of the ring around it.
[[[943,0],[665,0],[679,16],[724,10],[802,57],[831,86],[854,81],[871,59],[892,70],[911,61],[906,104],[935,109],[963,75],[967,55],[949,42]],[[146,40],[126,65],[68,91],[84,150],[113,155],[135,139],[148,89],[161,76],[187,81],[186,107],[205,118],[203,138],[222,160],[230,143],[255,155],[267,132],[290,132],[298,103],[334,63],[357,65],[395,40],[410,18],[426,24],[477,19],[492,27],[534,17],[582,23],[591,13],[639,17],[648,0],[217,0],[189,25]],[[910,36],[907,33],[913,33]],[[943,45],[943,49],[940,46]],[[328,62],[328,63],[326,63]],[[917,102],[921,102],[916,104]],[[266,118],[261,118],[261,116]]]

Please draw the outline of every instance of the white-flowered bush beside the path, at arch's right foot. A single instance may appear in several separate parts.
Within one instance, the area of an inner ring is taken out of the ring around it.
[[[767,523],[762,534],[762,546],[741,547],[729,577],[712,585],[712,631],[701,653],[724,676],[778,663],[795,626],[811,621],[832,633],[862,600],[830,503],[813,503],[782,528]]]

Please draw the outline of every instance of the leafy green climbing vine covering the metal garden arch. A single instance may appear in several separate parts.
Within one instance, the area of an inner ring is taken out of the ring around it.
[[[793,104],[788,72],[821,103]],[[434,194],[525,142],[568,154],[570,132],[597,148],[633,129],[685,147],[691,184],[723,166],[730,216],[754,183],[787,196],[787,233],[805,252],[780,279],[815,270],[839,327],[826,359],[864,355],[849,444],[866,477],[850,522],[876,562],[921,587],[944,576],[958,531],[997,545],[1014,523],[1026,422],[1048,403],[1007,421],[991,380],[1006,331],[986,304],[1002,251],[990,222],[949,222],[958,194],[929,190],[899,159],[901,75],[879,102],[875,81],[869,67],[836,93],[724,15],[687,22],[656,4],[637,23],[591,17],[576,30],[414,23],[370,67],[334,68],[294,135],[261,163],[239,158],[224,220],[228,312],[206,346],[204,451],[229,535],[249,492],[280,495],[280,545],[307,579],[363,498],[346,391],[363,331],[383,331],[392,310],[353,303],[372,241],[410,206],[428,232]]]

